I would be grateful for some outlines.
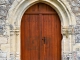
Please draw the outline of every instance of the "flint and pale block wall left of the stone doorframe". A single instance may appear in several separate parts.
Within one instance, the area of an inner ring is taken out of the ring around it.
[[[8,11],[14,0],[0,0],[0,60],[10,59],[10,44],[6,34]]]

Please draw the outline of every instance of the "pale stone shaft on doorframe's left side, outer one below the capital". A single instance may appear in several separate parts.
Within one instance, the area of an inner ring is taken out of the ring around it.
[[[16,33],[15,30],[11,30],[10,33],[10,58],[11,60],[16,59]]]

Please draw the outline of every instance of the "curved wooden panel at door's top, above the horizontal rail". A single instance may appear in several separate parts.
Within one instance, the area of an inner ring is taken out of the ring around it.
[[[44,9],[45,8],[45,9]],[[51,7],[49,6],[48,4],[45,4],[45,3],[42,3],[42,2],[39,2],[39,3],[36,3],[32,6],[30,6],[24,14],[26,13],[45,13],[45,12],[50,12],[50,13],[55,13],[57,14],[57,12]]]

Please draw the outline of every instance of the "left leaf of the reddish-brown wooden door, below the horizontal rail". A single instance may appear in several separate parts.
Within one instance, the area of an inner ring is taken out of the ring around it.
[[[24,60],[38,60],[39,58],[39,20],[38,15],[24,16]]]

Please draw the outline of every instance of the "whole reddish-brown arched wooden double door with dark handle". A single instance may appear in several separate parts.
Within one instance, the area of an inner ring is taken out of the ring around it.
[[[38,3],[21,21],[21,60],[61,60],[61,23],[54,9]]]

